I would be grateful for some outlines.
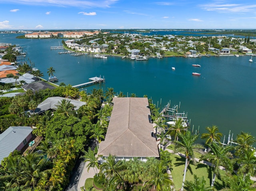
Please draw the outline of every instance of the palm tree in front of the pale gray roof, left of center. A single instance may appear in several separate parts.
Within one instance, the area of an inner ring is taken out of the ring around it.
[[[61,101],[58,101],[56,113],[70,117],[71,115],[74,115],[76,111],[74,110],[74,105],[71,104],[69,100],[62,99]]]

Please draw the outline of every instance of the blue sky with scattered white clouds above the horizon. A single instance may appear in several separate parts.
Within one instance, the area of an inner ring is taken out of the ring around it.
[[[255,29],[255,0],[0,0],[0,30]]]

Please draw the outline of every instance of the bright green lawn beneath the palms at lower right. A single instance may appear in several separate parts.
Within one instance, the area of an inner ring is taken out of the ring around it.
[[[175,185],[175,189],[178,190],[182,186],[183,171],[185,167],[185,158],[172,154],[172,179]],[[186,180],[191,181],[194,179],[194,175],[198,177],[204,177],[206,180],[206,187],[210,187],[210,182],[212,179],[212,174],[210,173],[210,167],[202,163],[197,163],[194,165],[192,161],[188,165],[188,171],[186,173]],[[225,174],[225,171],[220,171],[221,175]],[[214,187],[216,190],[220,190],[223,187],[222,181],[216,177]]]

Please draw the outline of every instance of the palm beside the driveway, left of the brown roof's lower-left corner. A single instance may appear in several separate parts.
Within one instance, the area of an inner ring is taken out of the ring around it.
[[[89,169],[92,167],[94,169],[94,173],[95,173],[95,169],[96,169],[96,174],[98,174],[97,169],[99,169],[99,165],[98,165],[98,157],[95,156],[94,151],[91,150],[91,148],[88,148],[88,151],[83,151],[84,156],[81,156],[80,158],[85,159],[84,162],[88,162],[88,164],[86,165],[87,167],[87,171],[89,172]]]

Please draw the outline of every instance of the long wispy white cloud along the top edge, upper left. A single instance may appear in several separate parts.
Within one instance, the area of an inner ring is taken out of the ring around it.
[[[65,7],[100,7],[108,8],[118,0],[1,0],[1,2],[8,2],[10,4],[24,4],[36,6],[65,6]]]

